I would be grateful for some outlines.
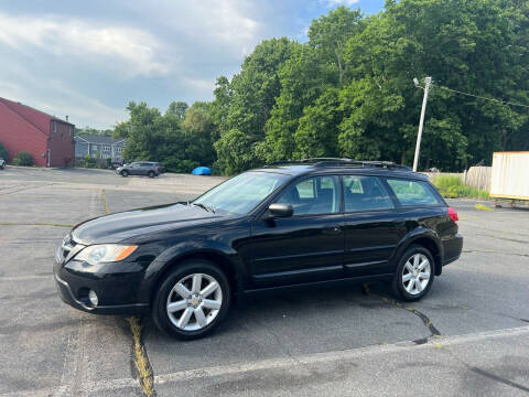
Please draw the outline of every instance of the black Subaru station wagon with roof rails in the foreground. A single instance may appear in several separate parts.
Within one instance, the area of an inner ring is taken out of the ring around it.
[[[460,257],[457,214],[425,175],[312,159],[239,174],[191,203],[75,226],[56,254],[62,299],[91,313],[151,311],[166,333],[212,331],[234,297],[346,280],[427,294]]]

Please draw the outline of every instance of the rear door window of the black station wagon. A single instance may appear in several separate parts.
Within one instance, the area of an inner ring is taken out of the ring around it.
[[[344,176],[345,212],[393,208],[393,203],[376,176]]]

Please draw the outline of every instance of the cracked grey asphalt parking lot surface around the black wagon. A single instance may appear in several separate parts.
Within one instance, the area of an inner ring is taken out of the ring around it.
[[[142,396],[122,316],[65,305],[53,257],[72,225],[190,200],[222,179],[105,170],[0,171],[0,396]],[[465,237],[420,302],[384,285],[255,297],[207,339],[141,319],[158,396],[529,394],[529,211],[454,200]]]

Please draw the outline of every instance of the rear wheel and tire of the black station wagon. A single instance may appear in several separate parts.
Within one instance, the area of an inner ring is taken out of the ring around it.
[[[417,301],[424,297],[434,279],[432,254],[424,247],[413,245],[406,250],[393,276],[393,294],[403,301]]]

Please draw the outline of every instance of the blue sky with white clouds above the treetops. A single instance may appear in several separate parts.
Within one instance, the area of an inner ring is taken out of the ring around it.
[[[0,0],[0,97],[77,127],[112,128],[130,100],[164,111],[210,100],[262,40],[306,41],[311,21],[384,0]]]

